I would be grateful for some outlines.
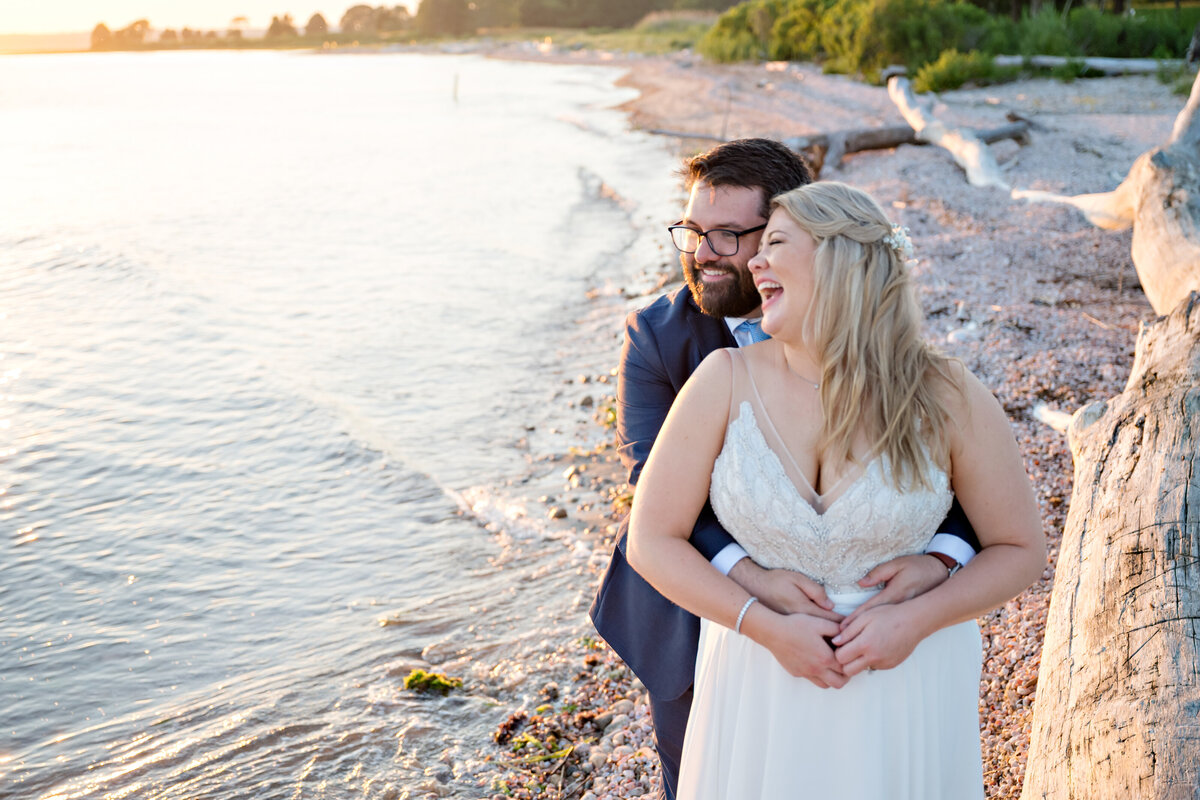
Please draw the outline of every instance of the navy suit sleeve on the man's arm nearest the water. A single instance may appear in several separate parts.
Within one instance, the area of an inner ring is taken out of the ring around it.
[[[685,378],[680,378],[680,384]],[[631,488],[637,486],[650,447],[677,393],[654,331],[637,312],[630,314],[617,374],[617,452],[629,470]],[[709,561],[727,545],[734,543],[708,503],[700,512],[690,541]],[[619,545],[624,552],[624,540]]]

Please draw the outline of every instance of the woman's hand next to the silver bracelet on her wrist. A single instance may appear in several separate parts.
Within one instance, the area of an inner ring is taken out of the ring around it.
[[[755,603],[742,631],[770,650],[796,678],[806,678],[821,688],[841,688],[850,680],[828,642],[838,633],[838,622],[809,614],[776,614]]]

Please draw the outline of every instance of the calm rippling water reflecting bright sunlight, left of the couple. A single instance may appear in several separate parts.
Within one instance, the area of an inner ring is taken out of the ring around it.
[[[0,58],[0,796],[480,794],[592,588],[511,487],[676,203],[617,74]]]

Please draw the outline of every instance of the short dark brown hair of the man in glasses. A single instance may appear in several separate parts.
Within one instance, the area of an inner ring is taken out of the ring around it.
[[[770,216],[770,198],[812,182],[804,158],[774,139],[734,139],[692,156],[680,170],[688,191],[696,181],[709,186],[743,186],[763,191],[762,216]]]

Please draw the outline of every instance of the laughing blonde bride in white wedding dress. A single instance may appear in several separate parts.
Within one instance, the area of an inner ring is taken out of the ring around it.
[[[1045,563],[1008,420],[920,337],[906,233],[820,182],[775,198],[750,261],[773,338],[718,350],[638,481],[629,559],[703,619],[682,800],[983,798],[976,616]],[[856,609],[924,552],[952,494],[983,549],[936,589]],[[710,495],[764,567],[818,581],[840,622],[778,614],[689,545]],[[835,691],[828,691],[835,690]]]

